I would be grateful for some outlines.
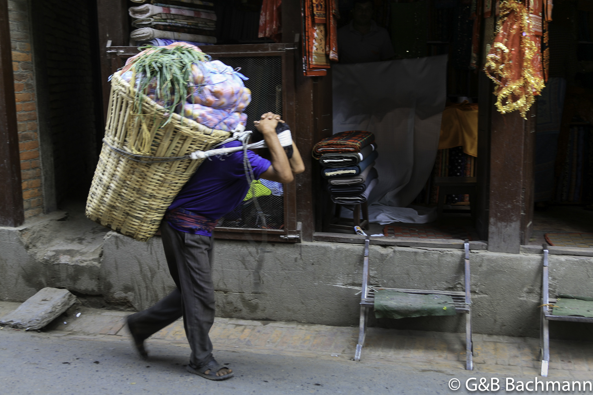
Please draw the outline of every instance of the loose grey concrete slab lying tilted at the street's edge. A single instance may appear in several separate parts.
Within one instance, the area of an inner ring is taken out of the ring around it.
[[[46,287],[28,298],[17,310],[0,319],[0,325],[38,330],[56,319],[76,302],[68,290]]]

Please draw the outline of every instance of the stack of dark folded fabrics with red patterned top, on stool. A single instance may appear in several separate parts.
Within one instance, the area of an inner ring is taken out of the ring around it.
[[[343,131],[313,147],[314,158],[323,166],[331,200],[339,204],[365,203],[377,185],[375,136],[362,130]]]

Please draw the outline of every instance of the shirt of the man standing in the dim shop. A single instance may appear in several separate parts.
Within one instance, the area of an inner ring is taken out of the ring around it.
[[[340,63],[380,62],[394,56],[387,29],[371,21],[371,30],[364,36],[355,30],[350,21],[337,31]]]

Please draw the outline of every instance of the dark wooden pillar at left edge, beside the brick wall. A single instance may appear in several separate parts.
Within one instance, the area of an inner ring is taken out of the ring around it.
[[[0,226],[24,221],[7,0],[0,0]]]

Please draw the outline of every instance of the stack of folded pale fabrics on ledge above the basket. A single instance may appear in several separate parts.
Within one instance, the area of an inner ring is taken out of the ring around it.
[[[203,0],[132,0],[144,3],[130,7],[133,18],[130,39],[139,45],[158,41],[185,41],[193,45],[216,44],[214,4]],[[165,2],[165,3],[163,3]],[[168,43],[164,43],[168,45]]]

